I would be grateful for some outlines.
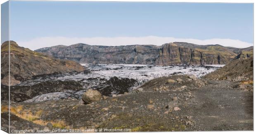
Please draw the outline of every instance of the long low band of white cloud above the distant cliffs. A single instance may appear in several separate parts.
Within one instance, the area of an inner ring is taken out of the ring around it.
[[[15,39],[12,39],[15,40]],[[75,44],[87,44],[90,46],[128,46],[128,45],[155,45],[162,46],[173,42],[185,42],[195,45],[221,45],[225,47],[247,48],[254,46],[253,43],[243,42],[238,39],[192,39],[192,38],[175,38],[175,37],[38,37],[28,41],[18,42],[19,46],[26,47],[31,50],[41,49],[52,46],[71,46]],[[79,43],[74,43],[79,42]],[[83,43],[85,42],[85,43]]]

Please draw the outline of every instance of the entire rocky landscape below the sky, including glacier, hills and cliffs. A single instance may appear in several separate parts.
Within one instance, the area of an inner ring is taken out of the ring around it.
[[[12,133],[253,130],[251,49],[76,44],[43,48],[42,54],[11,42],[8,87],[4,43],[2,130],[8,131],[8,110]]]

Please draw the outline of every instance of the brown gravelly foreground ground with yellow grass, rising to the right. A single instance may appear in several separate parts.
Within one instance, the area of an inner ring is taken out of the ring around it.
[[[247,68],[235,73],[253,78],[252,58],[234,60],[219,70]],[[234,62],[237,66],[233,66]],[[107,97],[88,89],[82,98],[11,104],[11,130],[30,132],[145,132],[253,130],[253,86],[244,80],[216,80],[216,72],[198,78],[171,75]],[[225,78],[221,73],[219,78]],[[240,86],[251,85],[249,90]],[[64,86],[65,87],[65,86]],[[5,102],[1,113],[8,111]],[[7,122],[7,118],[1,118]]]

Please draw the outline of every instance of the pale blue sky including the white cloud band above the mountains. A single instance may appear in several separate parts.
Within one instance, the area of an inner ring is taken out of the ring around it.
[[[253,4],[11,1],[9,25],[10,40],[32,50],[170,42],[244,48],[253,45]]]

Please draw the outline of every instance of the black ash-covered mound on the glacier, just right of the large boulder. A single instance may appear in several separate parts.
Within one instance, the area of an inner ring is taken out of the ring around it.
[[[134,86],[138,85],[135,79],[128,78],[117,78],[112,77],[105,83],[97,86],[97,90],[100,91],[102,95],[112,96],[113,94],[123,94],[124,92],[129,92]]]

